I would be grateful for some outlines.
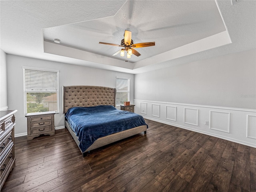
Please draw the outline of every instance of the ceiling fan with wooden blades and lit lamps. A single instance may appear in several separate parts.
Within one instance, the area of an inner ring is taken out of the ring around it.
[[[131,58],[132,54],[136,56],[140,56],[140,53],[136,51],[134,48],[140,48],[140,47],[149,47],[149,46],[154,46],[155,42],[145,42],[145,43],[136,43],[133,44],[132,40],[132,32],[125,30],[124,31],[124,39],[121,40],[121,44],[112,44],[112,43],[104,43],[104,42],[99,42],[99,44],[106,44],[106,45],[112,45],[112,46],[119,46],[123,47],[121,50],[115,52],[112,56],[115,56],[120,53],[120,56],[124,56],[125,51],[127,52],[127,58]]]

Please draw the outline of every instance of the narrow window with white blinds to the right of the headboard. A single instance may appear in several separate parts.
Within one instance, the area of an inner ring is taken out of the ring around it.
[[[124,101],[130,101],[130,79],[116,78],[116,106],[124,104]]]

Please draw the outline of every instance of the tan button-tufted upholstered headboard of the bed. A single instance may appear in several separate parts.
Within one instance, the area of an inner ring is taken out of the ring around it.
[[[62,86],[62,113],[71,107],[116,106],[116,88],[100,86]]]

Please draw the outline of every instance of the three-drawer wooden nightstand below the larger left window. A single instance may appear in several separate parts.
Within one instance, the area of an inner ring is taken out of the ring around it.
[[[27,140],[44,135],[54,135],[54,114],[55,112],[28,113],[26,115],[28,121]]]

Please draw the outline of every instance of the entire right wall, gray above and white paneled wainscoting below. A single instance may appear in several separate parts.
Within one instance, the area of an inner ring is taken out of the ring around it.
[[[144,118],[256,147],[255,49],[136,74],[134,82]]]

